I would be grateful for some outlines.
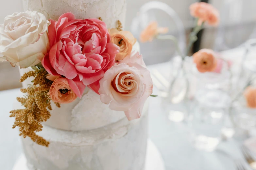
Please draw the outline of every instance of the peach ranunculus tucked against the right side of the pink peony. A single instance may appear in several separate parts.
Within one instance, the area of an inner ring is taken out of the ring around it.
[[[118,31],[117,29],[112,28],[109,29],[109,33],[111,35],[111,42],[120,47],[115,60],[121,61],[131,53],[132,47],[137,40],[129,31]]]

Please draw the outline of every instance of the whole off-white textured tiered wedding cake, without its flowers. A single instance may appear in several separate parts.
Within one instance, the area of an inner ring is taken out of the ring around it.
[[[58,20],[72,12],[76,18],[99,18],[109,28],[124,25],[126,0],[23,0],[25,10],[38,11]],[[138,50],[138,43],[133,50]],[[20,69],[21,75],[28,69]],[[23,87],[31,84],[27,79]],[[49,147],[23,138],[29,170],[144,170],[147,146],[146,102],[140,119],[128,121],[113,111],[100,95],[86,87],[82,98],[61,107],[52,106],[51,117],[38,135]]]

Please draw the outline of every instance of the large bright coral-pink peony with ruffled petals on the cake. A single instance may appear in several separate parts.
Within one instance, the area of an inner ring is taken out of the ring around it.
[[[98,19],[76,20],[72,13],[65,13],[58,21],[50,21],[51,49],[42,64],[51,75],[65,76],[81,97],[85,86],[94,89],[115,64],[119,47],[111,43],[106,24]]]

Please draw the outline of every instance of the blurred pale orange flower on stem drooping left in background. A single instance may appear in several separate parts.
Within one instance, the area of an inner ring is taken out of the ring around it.
[[[141,32],[140,41],[145,43],[151,42],[159,34],[166,34],[168,32],[167,27],[158,27],[157,21],[152,21],[148,26]]]

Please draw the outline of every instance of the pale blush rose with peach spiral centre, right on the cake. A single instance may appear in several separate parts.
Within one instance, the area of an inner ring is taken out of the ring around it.
[[[142,56],[136,55],[127,61],[140,58]],[[111,67],[100,80],[99,94],[101,102],[109,104],[111,110],[124,111],[128,120],[134,120],[141,117],[145,101],[152,90],[153,82],[145,66],[121,63]]]

